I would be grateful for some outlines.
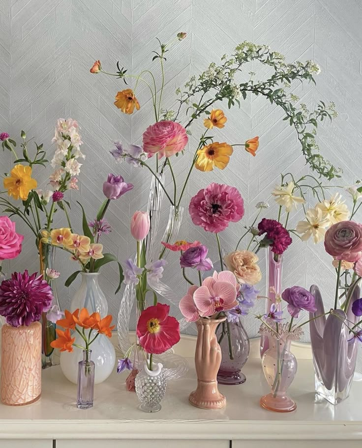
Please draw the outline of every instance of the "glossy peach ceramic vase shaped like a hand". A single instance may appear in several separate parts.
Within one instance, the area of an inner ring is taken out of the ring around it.
[[[221,364],[221,349],[217,343],[216,328],[226,317],[211,320],[200,318],[197,322],[195,367],[197,388],[188,401],[201,409],[221,409],[226,405],[225,396],[217,388],[217,372]]]

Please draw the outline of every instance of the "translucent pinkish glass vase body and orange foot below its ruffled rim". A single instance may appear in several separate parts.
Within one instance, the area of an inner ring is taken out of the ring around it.
[[[269,349],[264,353],[262,367],[265,378],[271,386],[271,393],[260,399],[262,408],[276,412],[292,412],[297,408],[295,401],[287,395],[297,373],[297,359],[290,352],[292,338],[269,336]]]

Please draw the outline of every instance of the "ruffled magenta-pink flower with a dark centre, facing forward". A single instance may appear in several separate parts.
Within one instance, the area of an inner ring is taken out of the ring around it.
[[[188,207],[192,222],[218,233],[244,216],[244,201],[235,187],[212,183],[194,196]]]

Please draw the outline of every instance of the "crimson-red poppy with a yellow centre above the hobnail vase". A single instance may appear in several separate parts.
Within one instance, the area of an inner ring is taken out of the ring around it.
[[[142,311],[137,336],[146,352],[164,353],[180,341],[180,324],[169,312],[170,307],[161,303]]]

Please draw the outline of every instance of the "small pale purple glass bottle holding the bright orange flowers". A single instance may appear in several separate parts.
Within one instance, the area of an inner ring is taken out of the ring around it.
[[[78,363],[77,408],[89,409],[93,406],[95,364],[91,360],[91,350],[83,350],[83,360]]]

